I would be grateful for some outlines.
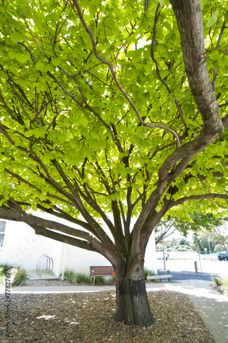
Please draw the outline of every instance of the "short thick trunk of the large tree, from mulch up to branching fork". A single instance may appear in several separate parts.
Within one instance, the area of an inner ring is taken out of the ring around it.
[[[116,320],[127,325],[150,327],[155,319],[147,300],[144,259],[137,255],[123,270],[116,270]]]

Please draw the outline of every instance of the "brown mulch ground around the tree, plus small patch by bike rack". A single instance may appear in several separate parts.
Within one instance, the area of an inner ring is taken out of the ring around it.
[[[68,281],[27,281],[27,285],[63,285]],[[1,342],[215,342],[186,294],[148,292],[155,316],[152,327],[127,327],[113,319],[115,292],[12,294],[11,338],[5,336],[5,294],[0,296]]]

